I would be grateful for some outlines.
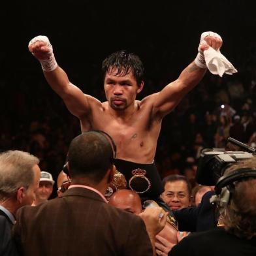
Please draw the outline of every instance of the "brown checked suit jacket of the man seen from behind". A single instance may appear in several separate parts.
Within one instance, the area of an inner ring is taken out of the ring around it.
[[[25,206],[16,219],[14,238],[24,255],[152,256],[140,217],[82,187],[39,206]]]

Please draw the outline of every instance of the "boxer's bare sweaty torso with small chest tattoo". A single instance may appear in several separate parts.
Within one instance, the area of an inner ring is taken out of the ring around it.
[[[152,118],[152,106],[136,101],[136,108],[125,119],[109,111],[107,102],[96,104],[89,118],[80,118],[82,131],[97,129],[108,133],[117,147],[116,158],[135,163],[152,163],[161,120]]]

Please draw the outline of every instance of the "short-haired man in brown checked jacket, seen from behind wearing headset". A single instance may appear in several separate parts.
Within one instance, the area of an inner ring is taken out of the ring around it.
[[[101,131],[72,140],[69,189],[61,197],[18,211],[14,238],[24,255],[152,256],[150,238],[159,227],[146,222],[148,234],[141,217],[108,205],[103,196],[116,170],[113,143]]]

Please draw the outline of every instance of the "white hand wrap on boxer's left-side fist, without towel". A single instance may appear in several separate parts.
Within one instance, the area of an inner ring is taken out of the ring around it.
[[[45,47],[47,47],[49,49],[49,52],[47,54],[48,58],[47,59],[39,59],[41,65],[42,65],[42,70],[46,71],[46,72],[54,71],[54,69],[57,68],[57,62],[56,62],[56,59],[54,57],[54,52],[53,52],[53,49],[52,49],[52,44],[50,44],[50,41],[49,41],[48,37],[46,37],[44,35],[39,35],[38,37],[34,37],[29,42],[29,46],[31,44],[37,42],[37,41],[45,42],[46,43]]]

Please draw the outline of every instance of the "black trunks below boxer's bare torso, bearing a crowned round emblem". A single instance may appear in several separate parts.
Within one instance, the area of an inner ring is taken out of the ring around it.
[[[142,164],[115,159],[116,169],[125,176],[127,189],[131,189],[140,195],[142,201],[147,199],[159,199],[163,193],[161,178],[154,163]]]

